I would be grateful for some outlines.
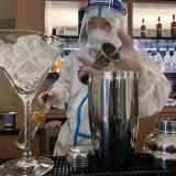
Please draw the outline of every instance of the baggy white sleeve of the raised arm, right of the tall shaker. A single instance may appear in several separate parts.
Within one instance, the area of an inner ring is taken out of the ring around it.
[[[156,64],[144,52],[138,52],[144,72],[139,81],[139,116],[150,117],[162,111],[170,94],[170,85]]]

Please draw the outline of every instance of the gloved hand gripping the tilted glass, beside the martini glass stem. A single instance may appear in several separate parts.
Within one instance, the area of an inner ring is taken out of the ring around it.
[[[45,112],[48,112],[48,110],[51,110],[51,107],[53,107],[53,105],[57,101],[58,96],[57,92],[51,90],[50,92],[47,92],[47,98],[44,101],[43,97],[46,95],[47,91],[42,92],[38,97],[37,97],[37,101],[40,103],[40,106],[43,107]]]

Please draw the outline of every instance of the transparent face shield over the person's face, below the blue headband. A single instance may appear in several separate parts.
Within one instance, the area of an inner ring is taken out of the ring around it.
[[[92,47],[108,42],[119,48],[121,42],[117,33],[123,26],[124,14],[124,9],[117,10],[110,3],[109,6],[88,7],[82,20],[79,45],[81,47]]]

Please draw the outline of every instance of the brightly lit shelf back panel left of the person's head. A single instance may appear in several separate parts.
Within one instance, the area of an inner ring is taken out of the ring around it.
[[[78,10],[85,6],[85,1],[46,1],[45,32],[51,34],[53,28],[62,26],[78,30]]]

